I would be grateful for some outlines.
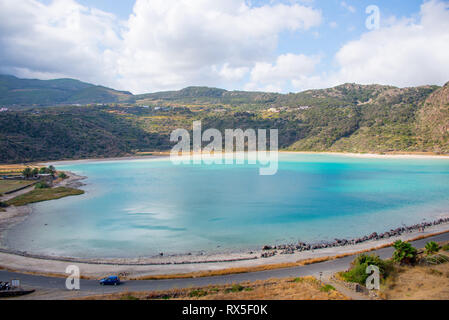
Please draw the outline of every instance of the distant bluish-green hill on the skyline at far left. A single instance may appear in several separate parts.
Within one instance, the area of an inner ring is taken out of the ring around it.
[[[36,80],[0,75],[0,105],[4,106],[51,106],[121,101],[133,101],[133,95],[73,79]]]

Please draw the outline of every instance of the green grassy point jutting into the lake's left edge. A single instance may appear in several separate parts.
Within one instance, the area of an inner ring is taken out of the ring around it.
[[[84,194],[83,190],[59,187],[54,189],[36,189],[27,194],[18,196],[14,199],[7,201],[10,206],[24,206],[30,203],[56,200],[69,196],[78,196]]]

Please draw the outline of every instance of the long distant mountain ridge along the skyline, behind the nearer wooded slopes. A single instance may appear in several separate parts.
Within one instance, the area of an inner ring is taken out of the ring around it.
[[[181,103],[297,106],[339,106],[368,103],[378,96],[394,95],[414,88],[436,90],[438,86],[398,88],[388,85],[361,85],[345,83],[327,89],[311,89],[297,93],[273,93],[262,91],[229,91],[207,86],[190,86],[181,90],[161,91],[134,95],[101,85],[93,85],[71,78],[53,80],[21,79],[11,75],[0,75],[0,105],[3,106],[57,106],[93,103]],[[323,101],[324,99],[324,101]]]

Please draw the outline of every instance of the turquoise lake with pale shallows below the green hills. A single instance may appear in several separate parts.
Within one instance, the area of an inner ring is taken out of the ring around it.
[[[57,164],[85,195],[33,205],[10,249],[87,258],[226,252],[353,238],[449,212],[449,160],[281,154],[255,165],[169,159]]]

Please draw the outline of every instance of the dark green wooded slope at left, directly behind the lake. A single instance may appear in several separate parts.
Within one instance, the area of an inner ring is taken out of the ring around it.
[[[0,114],[0,162],[5,163],[116,157],[168,149],[168,141],[100,107]]]

